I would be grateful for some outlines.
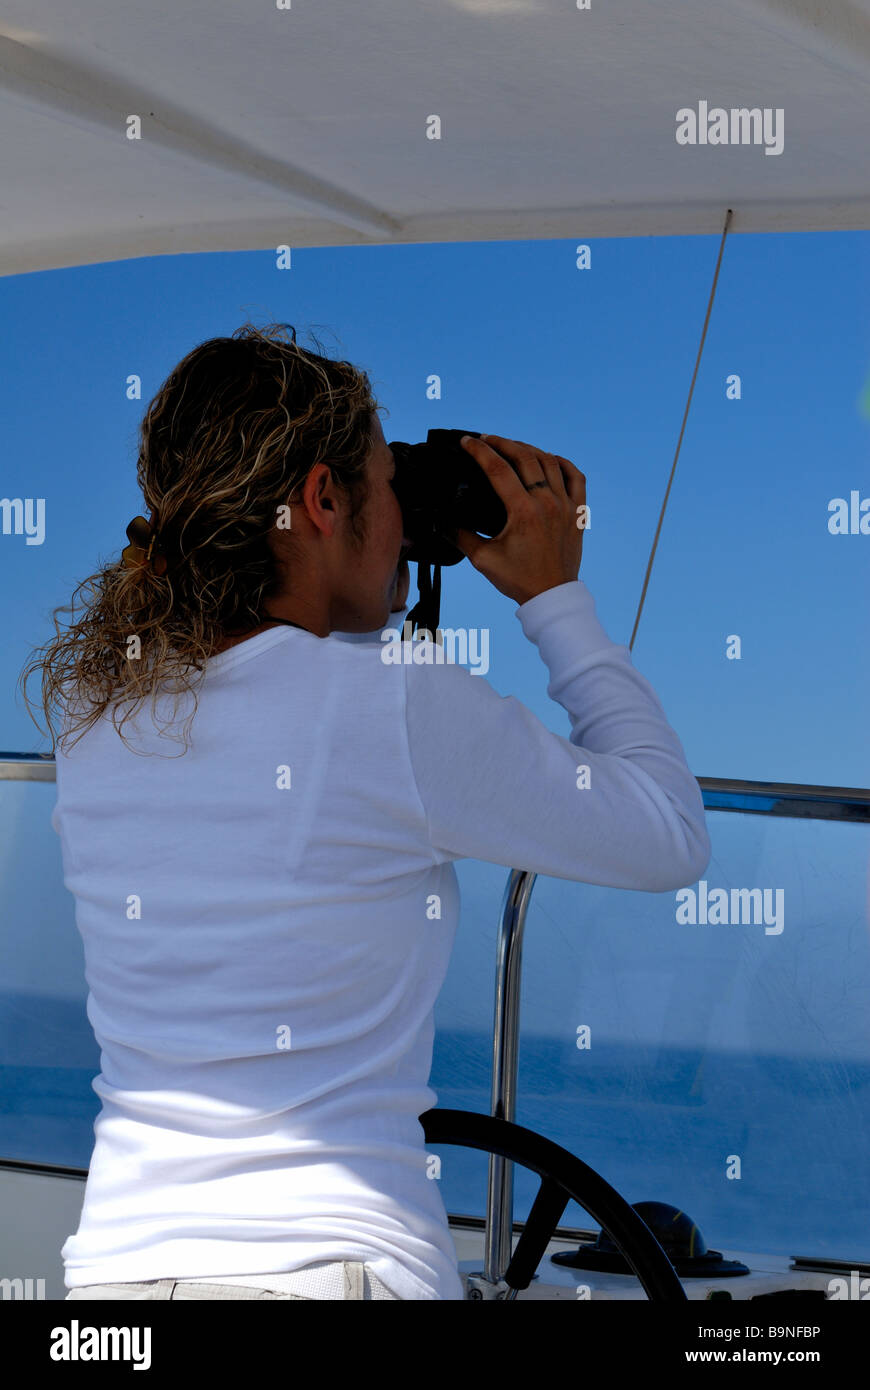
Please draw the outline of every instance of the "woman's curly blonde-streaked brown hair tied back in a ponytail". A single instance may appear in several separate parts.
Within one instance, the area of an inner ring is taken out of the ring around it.
[[[317,463],[328,463],[347,493],[352,535],[363,541],[366,461],[381,409],[364,371],[297,346],[290,324],[245,324],[231,338],[200,343],[174,367],[142,421],[136,463],[167,570],[131,570],[115,560],[53,610],[56,635],[35,649],[19,677],[42,733],[26,691],[42,673],[39,703],[51,752],[74,746],[110,706],[124,739],[126,720],[149,696],[156,713],[163,689],[174,691],[177,708],[193,692],[182,730],[189,746],[204,662],[224,637],[264,621],[263,607],[281,587],[268,534]],[[71,623],[61,631],[57,614],[65,612]],[[132,637],[147,660],[131,659]],[[65,724],[60,739],[53,712]]]

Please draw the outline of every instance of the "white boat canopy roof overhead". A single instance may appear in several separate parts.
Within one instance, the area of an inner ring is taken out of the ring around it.
[[[6,0],[0,136],[7,275],[867,228],[870,0]]]

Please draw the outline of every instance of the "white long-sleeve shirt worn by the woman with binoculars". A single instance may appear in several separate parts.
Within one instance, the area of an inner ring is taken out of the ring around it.
[[[139,752],[106,716],[58,749],[103,1102],[68,1287],[361,1259],[399,1298],[463,1297],[418,1120],[452,862],[667,891],[710,855],[585,585],[516,612],[570,739],[461,666],[282,626],[211,657],[186,752],[147,706]]]

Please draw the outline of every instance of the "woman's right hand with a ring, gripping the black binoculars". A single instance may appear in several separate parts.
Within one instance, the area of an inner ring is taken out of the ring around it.
[[[504,503],[507,523],[492,539],[461,527],[448,539],[517,603],[575,580],[582,557],[585,474],[557,453],[502,435],[468,436],[463,445]]]

